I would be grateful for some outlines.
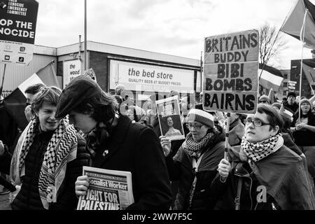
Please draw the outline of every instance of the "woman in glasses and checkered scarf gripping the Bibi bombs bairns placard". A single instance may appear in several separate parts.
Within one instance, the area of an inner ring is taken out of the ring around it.
[[[279,113],[259,104],[246,118],[241,146],[218,165],[225,182],[223,209],[314,209],[314,195],[302,158],[283,145]]]

